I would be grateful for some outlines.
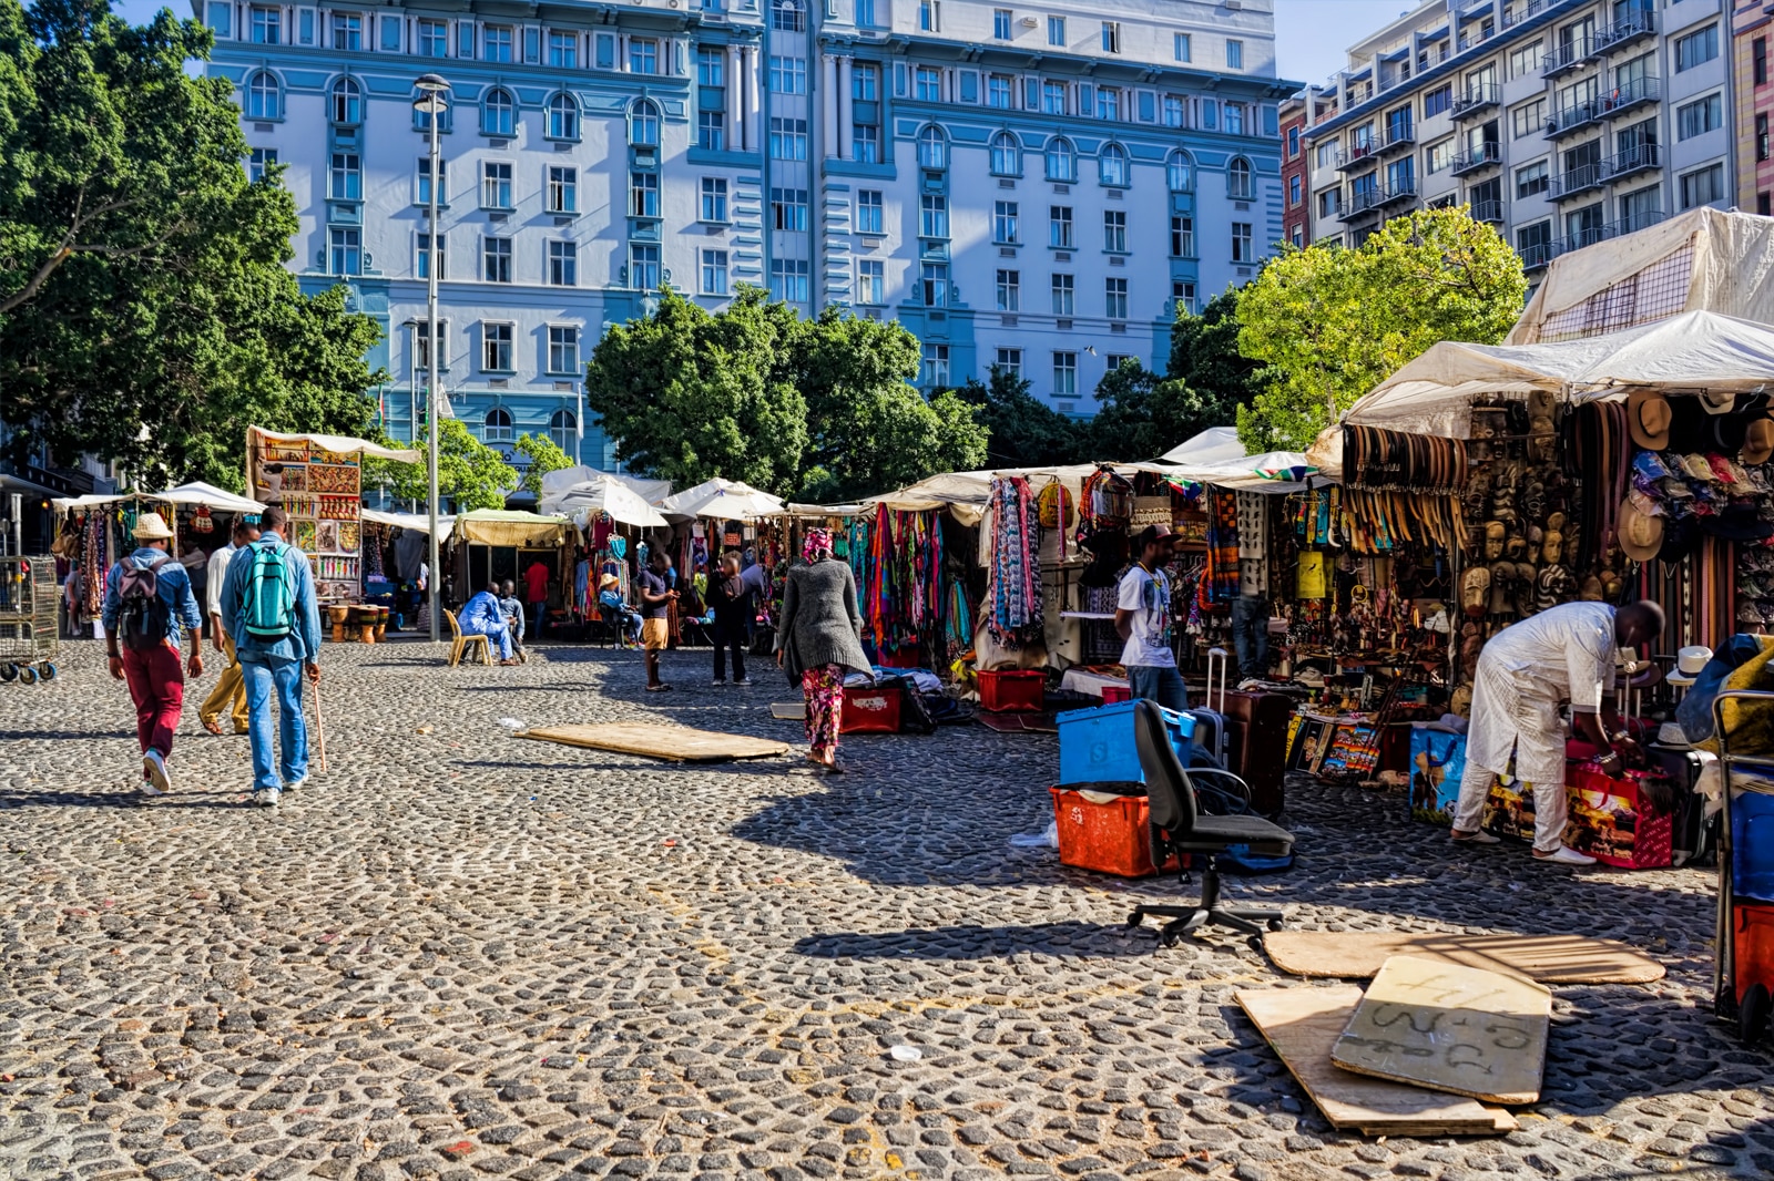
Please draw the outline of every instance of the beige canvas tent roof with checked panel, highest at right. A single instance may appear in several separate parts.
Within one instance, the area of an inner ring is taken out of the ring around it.
[[[1506,344],[1570,340],[1701,310],[1774,323],[1774,218],[1691,209],[1559,255]]]

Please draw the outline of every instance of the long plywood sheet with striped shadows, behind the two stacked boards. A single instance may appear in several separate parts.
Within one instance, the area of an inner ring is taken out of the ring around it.
[[[1293,975],[1364,981],[1393,956],[1440,959],[1542,984],[1650,984],[1664,966],[1616,940],[1581,935],[1405,935],[1272,931],[1263,950]]]

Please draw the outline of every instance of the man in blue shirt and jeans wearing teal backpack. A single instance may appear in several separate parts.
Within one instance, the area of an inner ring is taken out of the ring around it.
[[[302,787],[309,778],[302,676],[305,670],[309,681],[321,679],[321,612],[314,599],[314,571],[307,555],[284,541],[287,532],[289,514],[277,505],[266,509],[259,539],[229,559],[222,587],[222,617],[234,637],[247,681],[252,802],[264,809],[275,809],[282,793]],[[271,757],[273,693],[280,715],[280,764]]]

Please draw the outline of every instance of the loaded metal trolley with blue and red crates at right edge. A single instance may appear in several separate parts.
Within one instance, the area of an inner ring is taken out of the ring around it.
[[[1719,775],[1724,816],[1719,825],[1719,915],[1712,970],[1712,1011],[1737,1021],[1746,1046],[1769,1032],[1774,1007],[1774,750],[1733,754],[1724,731],[1724,702],[1767,702],[1774,692],[1728,690],[1712,702],[1712,732],[1719,738]],[[1744,782],[1733,800],[1733,768],[1767,775]]]

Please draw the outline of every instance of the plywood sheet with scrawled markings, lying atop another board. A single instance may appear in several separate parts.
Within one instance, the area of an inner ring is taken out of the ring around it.
[[[1552,993],[1519,975],[1393,956],[1330,1050],[1346,1071],[1533,1103],[1545,1076]]]

